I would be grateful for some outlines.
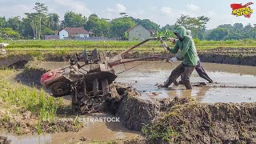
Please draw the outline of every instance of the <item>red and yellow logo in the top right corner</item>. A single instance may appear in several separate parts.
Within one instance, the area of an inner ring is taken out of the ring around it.
[[[242,5],[242,3],[233,3],[230,5],[232,8],[232,14],[237,17],[244,15],[246,18],[250,18],[250,15],[253,14],[254,10],[250,8],[250,5],[254,4],[253,2],[248,2],[246,5]]]

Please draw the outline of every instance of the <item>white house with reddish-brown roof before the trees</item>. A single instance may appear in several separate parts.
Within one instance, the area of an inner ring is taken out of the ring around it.
[[[66,27],[59,32],[59,38],[89,38],[89,32],[82,27]]]

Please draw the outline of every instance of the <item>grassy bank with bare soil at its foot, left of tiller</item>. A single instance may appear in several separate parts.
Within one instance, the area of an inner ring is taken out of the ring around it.
[[[14,70],[0,70],[0,130],[14,134],[41,134],[78,130],[79,123],[58,122],[62,107],[60,98],[52,98],[44,90],[10,82]],[[7,79],[6,79],[7,78]]]

